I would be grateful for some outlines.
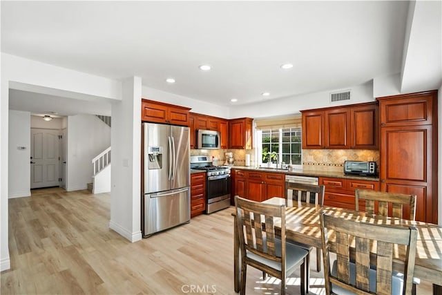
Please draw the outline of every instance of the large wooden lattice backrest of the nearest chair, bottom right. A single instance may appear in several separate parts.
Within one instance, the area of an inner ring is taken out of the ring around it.
[[[332,288],[343,288],[359,294],[369,294],[369,291],[377,294],[411,294],[416,257],[415,228],[344,220],[325,213],[320,214],[320,227],[327,294],[332,292]],[[402,289],[401,284],[394,286],[392,283],[393,249],[396,245],[407,246],[404,269],[401,271],[404,274]],[[330,270],[330,252],[336,254],[335,272]],[[376,271],[371,269],[372,265],[376,266]]]

